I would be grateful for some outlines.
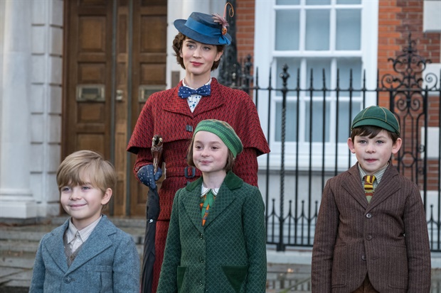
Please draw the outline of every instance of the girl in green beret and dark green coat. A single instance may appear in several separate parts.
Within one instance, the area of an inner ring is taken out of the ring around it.
[[[158,293],[265,293],[262,195],[230,171],[242,150],[228,123],[196,126],[187,160],[202,177],[174,197]]]

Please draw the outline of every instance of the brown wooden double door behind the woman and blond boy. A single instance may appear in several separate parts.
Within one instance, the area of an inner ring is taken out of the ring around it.
[[[134,178],[135,156],[126,147],[147,99],[140,89],[165,87],[166,3],[65,1],[61,157],[87,149],[113,162],[110,215],[145,216],[147,187]]]

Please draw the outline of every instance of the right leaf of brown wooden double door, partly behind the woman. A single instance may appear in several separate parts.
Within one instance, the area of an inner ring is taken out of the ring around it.
[[[149,94],[165,89],[167,0],[134,1],[133,11],[132,130]],[[131,166],[135,159],[131,155]],[[130,213],[144,215],[148,189],[130,180]]]

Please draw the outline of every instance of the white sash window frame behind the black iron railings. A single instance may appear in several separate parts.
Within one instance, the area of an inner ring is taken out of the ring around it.
[[[301,5],[304,5],[305,0],[300,0]],[[331,6],[318,6],[319,8],[329,9],[330,7],[336,4],[336,0],[331,0]],[[309,8],[310,6],[308,6]],[[344,8],[345,6],[339,5],[339,8]],[[362,70],[366,72],[366,88],[367,89],[376,89],[376,78],[377,78],[377,57],[378,57],[378,1],[371,0],[362,0],[359,5],[350,5],[351,8],[360,8],[361,9],[361,50],[327,50],[327,51],[306,51],[302,50],[304,48],[304,28],[300,28],[300,36],[299,40],[299,50],[284,50],[284,51],[276,51],[275,50],[275,15],[277,9],[285,9],[287,6],[276,6],[276,0],[265,0],[255,1],[255,54],[254,54],[254,66],[255,72],[256,68],[258,68],[259,72],[259,87],[264,89],[268,87],[268,77],[270,73],[272,74],[272,84],[271,87],[276,87],[276,79],[280,78],[279,74],[281,72],[276,72],[276,60],[277,57],[297,57],[303,58],[300,65],[300,75],[304,76],[301,78],[302,80],[302,89],[307,88],[307,84],[305,82],[306,79],[306,61],[305,58],[308,57],[329,57],[329,58],[338,58],[338,57],[360,57],[362,63]],[[314,7],[315,8],[315,7]],[[331,9],[331,11],[333,11]],[[335,10],[334,10],[335,11]],[[304,17],[304,16],[303,16]],[[300,18],[302,18],[302,12],[300,13]],[[335,18],[335,13],[331,13],[331,23],[333,23],[333,18]],[[334,22],[335,23],[335,22]],[[302,31],[303,30],[303,31]],[[330,31],[330,42],[335,42],[335,28],[331,28]],[[330,45],[331,45],[330,43]],[[332,48],[332,47],[331,47]],[[331,89],[335,89],[336,87],[336,60],[334,59],[331,62]],[[314,73],[314,77],[316,74]],[[361,77],[363,78],[363,76]],[[296,81],[292,78],[288,82],[289,88],[294,88]],[[328,85],[329,87],[329,85]],[[366,99],[366,106],[371,104],[376,104],[376,94],[375,92],[368,92]],[[308,98],[309,99],[309,98]],[[281,98],[276,96],[275,92],[272,92],[272,104],[271,104],[271,121],[268,121],[268,109],[267,109],[267,95],[266,92],[261,92],[259,94],[259,102],[258,102],[258,111],[260,115],[260,122],[262,123],[262,129],[267,131],[268,122],[270,122],[270,169],[277,170],[280,168],[281,162],[281,148],[282,145],[280,141],[275,141],[275,109],[276,102],[280,101]],[[331,101],[331,112],[333,111],[333,107],[335,107],[335,92],[331,92],[326,97],[327,101]],[[289,99],[287,100],[289,101]],[[302,109],[302,108],[301,108]],[[335,123],[336,118],[335,115],[331,114],[331,118],[329,120],[330,123]],[[332,126],[331,126],[332,127]],[[303,130],[302,130],[303,128]],[[349,128],[349,126],[348,126]],[[300,126],[299,134],[304,131],[304,126]],[[267,134],[267,133],[266,133]],[[287,170],[292,169],[295,166],[296,160],[296,144],[295,142],[285,142],[285,168]],[[322,167],[322,143],[318,143],[318,145],[314,145],[312,148],[315,150],[319,148],[319,154],[313,155],[312,157],[312,167],[321,168]],[[326,143],[326,150],[331,150],[335,148],[335,143]],[[309,166],[309,157],[304,155],[309,150],[309,143],[300,143],[299,144],[299,167],[307,167]],[[349,157],[351,160],[355,162],[355,157],[350,155],[348,147],[346,143],[339,143],[338,145],[338,164],[347,168],[347,163]],[[317,153],[317,152],[316,152]],[[326,152],[325,155],[325,165],[331,166],[335,162],[335,155]],[[259,157],[259,165],[260,167],[266,167],[267,162],[265,156]]]

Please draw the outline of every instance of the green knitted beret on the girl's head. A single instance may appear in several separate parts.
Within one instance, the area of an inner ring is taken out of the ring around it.
[[[233,157],[236,157],[238,153],[242,152],[243,145],[240,141],[240,138],[235,133],[233,127],[225,121],[216,120],[216,119],[207,119],[198,123],[196,129],[194,130],[193,137],[196,135],[198,131],[208,131],[216,134],[227,148],[233,153]]]

